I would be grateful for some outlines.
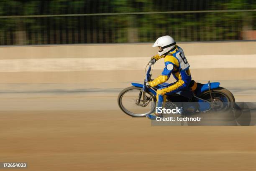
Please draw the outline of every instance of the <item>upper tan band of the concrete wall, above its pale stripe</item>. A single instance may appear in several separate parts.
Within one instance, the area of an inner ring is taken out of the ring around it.
[[[256,54],[256,41],[177,43],[186,55]],[[151,57],[158,48],[146,44],[0,46],[0,59]]]

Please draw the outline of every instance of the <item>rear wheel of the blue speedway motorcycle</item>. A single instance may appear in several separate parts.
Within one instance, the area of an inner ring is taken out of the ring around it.
[[[212,89],[211,95],[209,91],[205,91],[200,95],[200,98],[211,102],[213,101],[212,111],[231,111],[235,105],[233,94],[222,87]]]

